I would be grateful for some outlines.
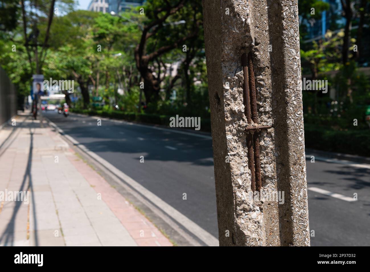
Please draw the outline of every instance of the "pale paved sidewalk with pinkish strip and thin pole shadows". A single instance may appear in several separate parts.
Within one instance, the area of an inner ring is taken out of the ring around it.
[[[0,130],[0,245],[172,246],[46,121],[15,121]]]

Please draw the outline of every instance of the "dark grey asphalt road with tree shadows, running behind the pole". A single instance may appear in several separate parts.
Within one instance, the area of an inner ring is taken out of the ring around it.
[[[110,162],[210,234],[218,237],[212,140],[149,126],[43,113],[66,134]],[[310,154],[306,154],[310,155]],[[140,163],[144,156],[144,163]],[[312,246],[370,245],[370,166],[307,159]],[[186,193],[187,200],[183,200]]]

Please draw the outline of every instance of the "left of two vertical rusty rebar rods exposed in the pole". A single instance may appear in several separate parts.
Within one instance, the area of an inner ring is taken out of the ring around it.
[[[249,94],[249,77],[248,77],[248,57],[244,53],[242,54],[242,66],[243,66],[243,103],[244,103],[244,114],[247,117],[248,124],[252,122],[251,111],[250,111],[250,94]],[[256,177],[255,177],[255,163],[254,163],[254,151],[253,151],[253,131],[247,133],[247,148],[248,148],[248,167],[251,174],[250,188],[252,192],[256,191]]]

